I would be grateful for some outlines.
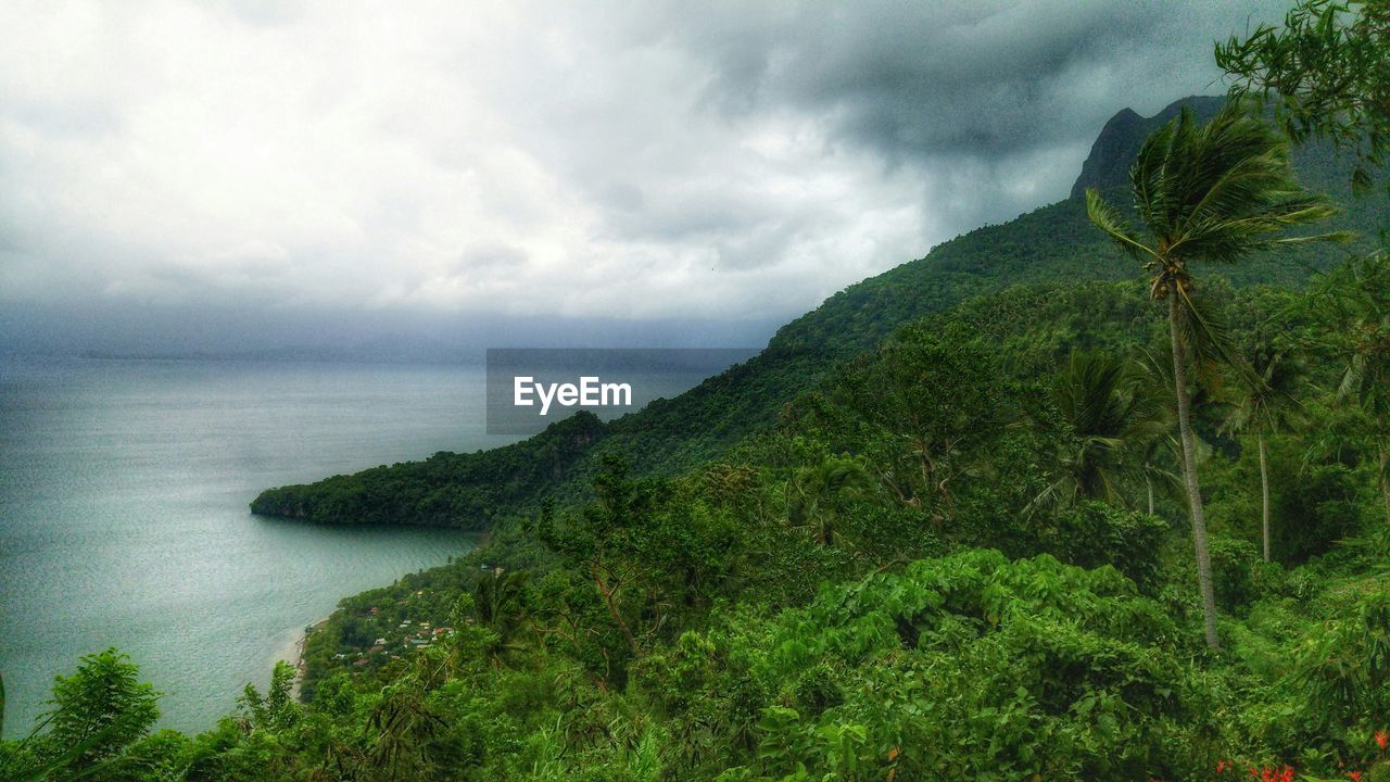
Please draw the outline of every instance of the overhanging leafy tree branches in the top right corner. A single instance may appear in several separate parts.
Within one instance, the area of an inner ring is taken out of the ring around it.
[[[1258,95],[1295,142],[1329,138],[1355,153],[1365,188],[1390,153],[1390,3],[1300,0],[1284,25],[1216,46],[1234,96]]]

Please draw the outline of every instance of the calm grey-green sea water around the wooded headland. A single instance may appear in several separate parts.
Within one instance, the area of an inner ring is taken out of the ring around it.
[[[338,600],[467,552],[439,529],[252,516],[261,490],[484,434],[481,366],[0,360],[0,673],[6,736],[53,676],[114,646],[206,729],[264,687]]]

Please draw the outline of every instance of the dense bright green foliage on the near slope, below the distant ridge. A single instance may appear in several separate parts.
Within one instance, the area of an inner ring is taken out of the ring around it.
[[[1276,321],[1308,365],[1301,423],[1266,433],[1268,564],[1252,436],[1225,426],[1237,384],[1200,394],[1219,654],[1165,436],[1131,423],[1172,426],[1144,390],[1162,313],[1140,282],[1054,282],[901,330],[721,459],[676,479],[607,459],[591,501],[345,600],[309,639],[307,704],[282,667],[218,728],[149,733],[153,694],[108,653],[4,763],[43,778],[81,756],[111,779],[1384,774],[1390,519],[1368,413],[1337,402],[1343,274],[1208,287],[1240,342]]]

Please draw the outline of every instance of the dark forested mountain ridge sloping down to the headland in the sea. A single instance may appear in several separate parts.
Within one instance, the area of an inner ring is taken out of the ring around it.
[[[557,442],[570,442],[563,429],[567,423],[553,424],[510,448],[467,456],[439,454],[425,462],[268,490],[256,498],[252,511],[328,523],[391,519],[484,529],[498,516],[534,509],[542,494],[562,500],[584,494],[605,454],[626,456],[639,473],[674,474],[695,466],[771,426],[787,402],[813,388],[837,362],[877,345],[906,323],[1015,284],[1137,277],[1133,260],[1090,224],[1080,196],[1088,186],[1122,188],[1144,138],[1184,104],[1205,117],[1222,100],[1187,97],[1147,118],[1129,109],[1118,113],[1097,136],[1066,200],[977,228],[933,248],[922,259],[840,291],[780,328],[753,359],[674,399],[653,402],[612,423],[588,422],[582,445],[567,449],[562,459],[553,458],[553,452]],[[1348,167],[1330,147],[1300,149],[1294,163],[1309,188],[1326,191],[1346,205],[1337,227],[1358,231],[1364,238],[1344,248],[1305,246],[1279,256],[1255,256],[1222,270],[1233,284],[1300,285],[1347,253],[1368,249],[1382,227],[1386,198],[1382,193],[1352,198]],[[546,469],[520,466],[524,454],[549,459]],[[520,483],[503,477],[513,473],[528,477]],[[546,480],[532,480],[541,474]],[[506,480],[507,488],[491,486],[498,480]],[[391,515],[379,509],[386,498]]]

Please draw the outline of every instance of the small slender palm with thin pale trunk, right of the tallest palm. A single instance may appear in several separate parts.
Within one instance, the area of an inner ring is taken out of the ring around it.
[[[1275,346],[1268,338],[1257,337],[1250,352],[1230,417],[1229,431],[1254,431],[1259,449],[1259,518],[1265,562],[1269,562],[1269,455],[1265,437],[1297,420],[1295,391],[1304,381],[1301,365]]]

